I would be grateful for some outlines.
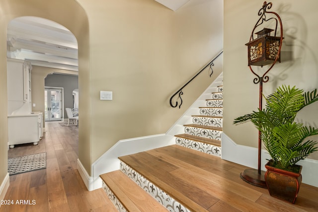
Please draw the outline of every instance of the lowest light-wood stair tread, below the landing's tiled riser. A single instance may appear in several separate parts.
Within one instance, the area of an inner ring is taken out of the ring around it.
[[[120,170],[102,174],[100,175],[100,178],[106,183],[108,188],[116,195],[118,200],[128,211],[168,211]]]

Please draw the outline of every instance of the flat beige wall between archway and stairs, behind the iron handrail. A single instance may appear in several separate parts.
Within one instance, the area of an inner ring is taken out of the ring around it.
[[[222,49],[223,3],[194,0],[176,12],[153,0],[80,3],[90,23],[94,161],[119,140],[165,133],[212,82],[203,74],[184,90],[181,110],[168,105]],[[101,90],[113,100],[99,100]]]

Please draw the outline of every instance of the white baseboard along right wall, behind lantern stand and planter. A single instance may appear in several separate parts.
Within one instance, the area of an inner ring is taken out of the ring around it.
[[[228,160],[240,165],[257,169],[258,166],[258,149],[250,146],[239,145],[225,133],[222,133],[222,159]],[[261,170],[266,171],[266,159],[270,159],[266,150],[261,151]],[[302,165],[303,183],[318,187],[318,161],[312,159],[301,160],[297,163]]]

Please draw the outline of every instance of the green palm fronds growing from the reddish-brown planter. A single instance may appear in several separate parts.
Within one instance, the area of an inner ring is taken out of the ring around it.
[[[287,169],[318,150],[317,141],[304,142],[307,137],[318,135],[318,129],[294,122],[298,111],[318,101],[317,89],[304,93],[295,86],[283,85],[265,100],[265,109],[240,116],[234,124],[254,124],[276,167]]]

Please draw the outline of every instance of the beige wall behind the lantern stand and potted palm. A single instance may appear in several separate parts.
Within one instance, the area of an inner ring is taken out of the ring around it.
[[[257,131],[251,123],[233,125],[233,120],[258,107],[258,84],[247,67],[250,33],[263,0],[224,0],[224,133],[235,142],[257,147]],[[269,2],[269,1],[268,1]],[[304,90],[318,87],[318,1],[272,0],[269,11],[277,12],[283,23],[282,63],[269,72],[264,95],[279,85],[296,85]],[[261,71],[255,69],[255,71]],[[318,127],[318,103],[301,111],[299,120]],[[318,137],[314,138],[318,139]],[[311,158],[318,159],[318,153]]]

